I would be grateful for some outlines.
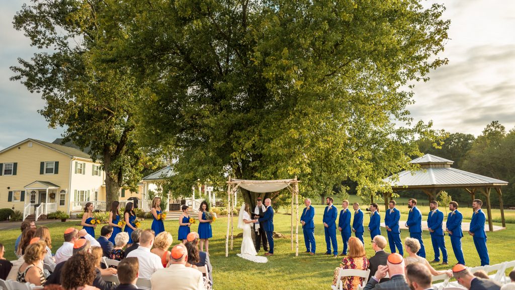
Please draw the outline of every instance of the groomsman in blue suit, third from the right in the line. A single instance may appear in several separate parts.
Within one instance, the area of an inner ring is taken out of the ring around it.
[[[435,251],[435,260],[432,263],[440,262],[440,250],[442,251],[443,262],[440,265],[449,265],[447,260],[447,249],[443,233],[443,212],[438,210],[438,202],[433,200],[429,203],[431,212],[427,215],[427,228],[431,233],[431,242]]]

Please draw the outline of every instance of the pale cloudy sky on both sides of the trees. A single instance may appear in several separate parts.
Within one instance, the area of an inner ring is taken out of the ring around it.
[[[53,141],[62,128],[48,128],[38,109],[41,96],[13,82],[10,66],[29,59],[36,49],[12,27],[16,11],[28,0],[0,0],[0,150],[27,138]],[[434,0],[423,1],[424,6]],[[416,84],[415,121],[433,121],[447,132],[481,134],[491,121],[515,127],[515,1],[448,0],[443,19],[450,19],[450,40],[440,57],[449,64]]]

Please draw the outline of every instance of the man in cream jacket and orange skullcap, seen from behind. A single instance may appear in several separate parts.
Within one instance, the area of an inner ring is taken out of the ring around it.
[[[150,283],[152,290],[197,290],[205,289],[202,273],[187,268],[188,252],[183,244],[171,249],[171,261],[168,268],[159,269],[153,273]]]

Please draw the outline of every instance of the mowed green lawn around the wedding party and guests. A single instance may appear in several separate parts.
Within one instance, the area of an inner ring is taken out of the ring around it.
[[[234,239],[234,248],[229,251],[229,256],[225,256],[225,235],[227,230],[227,218],[220,217],[213,223],[213,238],[210,239],[210,256],[213,265],[213,279],[216,289],[255,289],[255,290],[270,290],[270,289],[328,289],[332,282],[333,271],[339,265],[341,257],[334,258],[332,256],[324,255],[326,251],[325,238],[322,225],[322,215],[324,206],[315,205],[315,238],[317,241],[317,253],[314,256],[303,253],[305,251],[304,237],[302,235],[302,228],[299,226],[299,256],[295,256],[295,250],[291,250],[290,244],[290,215],[283,213],[276,213],[274,215],[274,227],[276,232],[280,232],[286,238],[275,239],[275,254],[269,257],[266,264],[256,264],[247,260],[243,260],[236,256],[239,253],[241,246],[241,238]],[[338,206],[339,208],[339,206]],[[362,210],[365,206],[362,206]],[[302,207],[300,207],[302,210]],[[401,220],[407,218],[407,210],[403,210]],[[339,212],[339,210],[338,210]],[[427,211],[423,211],[427,213]],[[383,211],[381,211],[383,213]],[[465,211],[466,218],[470,218],[470,214]],[[426,215],[423,217],[425,220]],[[234,235],[242,231],[237,229],[237,217],[233,217],[234,221]],[[369,216],[365,215],[365,227],[368,224]],[[423,221],[425,222],[425,221]],[[150,228],[151,220],[143,221],[142,228]],[[67,227],[79,227],[79,221],[56,222],[48,224],[52,232],[53,249],[55,251],[61,246],[63,242],[62,233]],[[499,223],[496,223],[500,225]],[[165,229],[174,236],[174,244],[177,242],[177,232],[179,224],[177,221],[166,221]],[[197,230],[198,225],[193,225],[193,230]],[[96,229],[98,237],[100,228]],[[295,229],[294,229],[295,232]],[[6,246],[6,259],[14,260],[14,241],[18,237],[19,230],[2,231],[0,234],[0,243]],[[386,231],[382,229],[382,234],[386,236]],[[402,239],[407,237],[409,233],[403,231],[401,233]],[[507,229],[494,233],[487,233],[488,235],[488,249],[490,253],[490,263],[496,264],[504,261],[515,259],[513,251],[515,247],[511,241],[515,235],[515,225],[507,224]],[[342,251],[342,241],[339,233],[338,251]],[[364,235],[365,247],[367,256],[373,255],[373,250],[370,244],[370,234],[368,232]],[[433,260],[434,252],[431,244],[431,237],[428,232],[423,233],[424,244],[426,246],[426,254],[428,260]],[[456,259],[454,257],[451,242],[448,236],[445,237],[445,244],[449,252],[449,264],[454,265]],[[467,235],[462,239],[463,249],[465,252],[465,261],[467,266],[479,266],[479,256],[474,247],[472,237]],[[295,240],[294,240],[295,246]],[[389,246],[386,247],[389,252]],[[263,254],[263,251],[260,252]],[[437,269],[446,269],[449,267],[435,266]]]

